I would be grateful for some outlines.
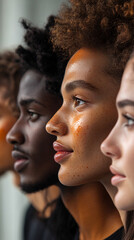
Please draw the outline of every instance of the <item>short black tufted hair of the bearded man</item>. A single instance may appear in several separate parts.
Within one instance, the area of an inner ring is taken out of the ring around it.
[[[16,49],[25,71],[32,69],[47,76],[47,89],[54,93],[60,92],[67,61],[63,60],[60,52],[54,52],[50,41],[50,28],[54,25],[54,16],[50,16],[44,28],[37,28],[22,20],[22,26],[26,30],[24,46]],[[51,79],[51,81],[50,81]]]

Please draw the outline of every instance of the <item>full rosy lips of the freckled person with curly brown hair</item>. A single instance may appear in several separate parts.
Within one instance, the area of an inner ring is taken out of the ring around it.
[[[67,148],[64,145],[62,145],[61,143],[56,142],[56,141],[53,143],[53,148],[57,152],[54,155],[54,160],[57,163],[60,163],[65,157],[69,156],[73,152],[72,149]]]

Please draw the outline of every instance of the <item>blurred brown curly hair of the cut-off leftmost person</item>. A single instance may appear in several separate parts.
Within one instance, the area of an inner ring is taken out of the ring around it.
[[[18,115],[17,94],[21,76],[23,74],[17,54],[13,51],[0,53],[0,90],[2,97],[8,100],[9,107],[15,116]]]

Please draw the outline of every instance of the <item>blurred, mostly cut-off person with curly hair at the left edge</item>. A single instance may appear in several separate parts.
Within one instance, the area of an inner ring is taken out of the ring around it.
[[[22,68],[13,51],[0,53],[0,176],[13,170],[12,147],[6,142],[6,134],[18,116],[16,98]]]

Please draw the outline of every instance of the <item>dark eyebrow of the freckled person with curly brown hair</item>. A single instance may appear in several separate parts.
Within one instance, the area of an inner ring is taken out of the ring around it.
[[[73,82],[69,82],[65,86],[65,90],[67,92],[73,91],[76,88],[86,88],[90,91],[95,91],[97,88],[93,86],[91,83],[87,83],[84,80],[75,80]]]

